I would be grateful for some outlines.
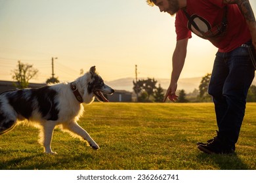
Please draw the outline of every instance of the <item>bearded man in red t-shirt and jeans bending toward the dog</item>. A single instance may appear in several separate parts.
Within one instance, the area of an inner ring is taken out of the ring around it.
[[[177,44],[173,53],[171,82],[164,101],[167,97],[171,101],[177,99],[177,82],[191,32],[219,48],[208,90],[215,104],[219,131],[217,137],[206,143],[198,142],[198,148],[207,154],[233,153],[244,119],[247,91],[255,73],[249,48],[256,48],[256,22],[249,0],[147,2],[159,7],[161,12],[176,14]]]

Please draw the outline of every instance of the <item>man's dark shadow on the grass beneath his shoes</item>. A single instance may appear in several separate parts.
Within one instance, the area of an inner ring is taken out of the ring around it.
[[[249,167],[240,159],[237,154],[198,154],[200,162],[207,165],[212,164],[221,170],[249,170]]]

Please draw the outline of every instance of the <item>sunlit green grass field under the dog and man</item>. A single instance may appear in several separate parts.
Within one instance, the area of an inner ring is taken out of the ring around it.
[[[93,103],[79,124],[99,150],[54,130],[43,154],[38,130],[18,125],[0,136],[0,169],[256,169],[256,103],[248,103],[233,155],[208,155],[196,142],[215,136],[212,103]]]

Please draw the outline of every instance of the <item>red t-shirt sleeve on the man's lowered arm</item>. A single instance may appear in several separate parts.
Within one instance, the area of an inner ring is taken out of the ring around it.
[[[192,37],[191,31],[186,26],[187,22],[188,22],[188,19],[181,12],[181,10],[177,12],[176,19],[175,19],[175,31],[177,35],[177,41]]]

